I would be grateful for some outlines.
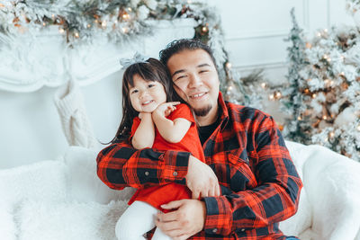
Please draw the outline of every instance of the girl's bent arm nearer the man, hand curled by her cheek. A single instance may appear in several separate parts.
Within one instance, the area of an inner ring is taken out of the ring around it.
[[[165,102],[152,112],[152,119],[157,126],[161,137],[170,143],[178,143],[184,138],[192,124],[191,121],[177,118],[174,121],[166,119],[166,116],[175,110],[174,102]]]

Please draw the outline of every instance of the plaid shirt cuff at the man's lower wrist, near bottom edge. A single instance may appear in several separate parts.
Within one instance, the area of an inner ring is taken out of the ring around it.
[[[225,200],[223,196],[205,197],[202,200],[206,206],[205,232],[229,236],[232,231],[232,213],[229,209],[229,201]]]

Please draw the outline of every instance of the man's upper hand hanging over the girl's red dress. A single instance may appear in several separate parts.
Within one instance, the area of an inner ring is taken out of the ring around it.
[[[220,196],[218,178],[211,167],[202,163],[194,156],[190,156],[187,168],[186,185],[193,192],[193,199],[199,197]]]

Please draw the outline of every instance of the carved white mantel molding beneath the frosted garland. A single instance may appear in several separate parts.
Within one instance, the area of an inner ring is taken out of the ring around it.
[[[153,36],[139,36],[126,44],[114,44],[106,37],[91,44],[68,48],[57,28],[37,32],[34,36],[19,34],[14,38],[0,36],[0,89],[10,92],[33,92],[42,86],[57,87],[70,78],[80,85],[93,84],[119,70],[120,58],[130,58],[135,51],[158,58],[158,51],[168,42],[193,38],[193,19],[151,21]]]

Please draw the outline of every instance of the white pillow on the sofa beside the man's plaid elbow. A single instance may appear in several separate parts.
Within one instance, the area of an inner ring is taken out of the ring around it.
[[[130,200],[133,188],[122,191],[106,186],[96,173],[98,152],[85,147],[69,147],[64,156],[67,164],[67,188],[69,200],[96,201],[107,204],[111,200]]]

